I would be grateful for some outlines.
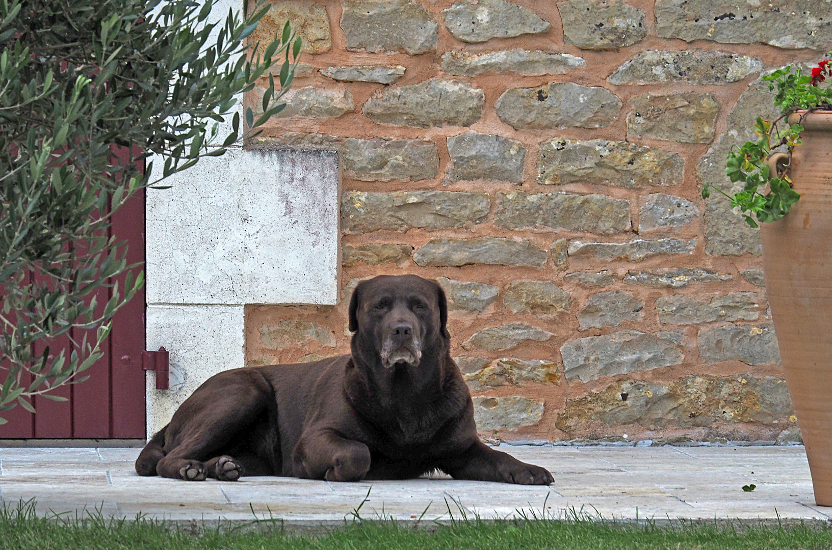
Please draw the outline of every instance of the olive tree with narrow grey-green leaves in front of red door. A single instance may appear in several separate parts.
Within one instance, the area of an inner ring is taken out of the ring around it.
[[[219,20],[213,7],[0,0],[0,415],[32,411],[32,395],[62,400],[49,392],[85,379],[113,314],[141,289],[140,266],[107,237],[111,215],[140,189],[223,155],[285,106],[300,52],[289,22],[248,47],[269,6]],[[265,76],[262,113],[249,108],[240,121],[237,98]],[[125,285],[111,285],[125,272]],[[51,351],[59,336],[72,345]]]

